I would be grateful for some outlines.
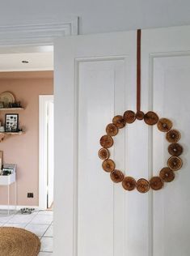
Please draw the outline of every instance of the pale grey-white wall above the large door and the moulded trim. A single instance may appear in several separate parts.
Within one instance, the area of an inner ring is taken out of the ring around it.
[[[123,31],[190,23],[189,0],[7,0],[0,25],[60,22],[79,16],[80,33]]]

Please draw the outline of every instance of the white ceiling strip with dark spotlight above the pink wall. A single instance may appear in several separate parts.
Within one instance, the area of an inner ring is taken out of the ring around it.
[[[53,70],[53,47],[17,47],[1,50],[0,72],[35,70]]]

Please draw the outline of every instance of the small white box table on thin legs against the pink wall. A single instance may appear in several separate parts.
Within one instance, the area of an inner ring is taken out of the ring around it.
[[[16,210],[16,173],[11,173],[10,175],[0,175],[0,186],[7,186],[8,199],[7,199],[7,213],[10,212],[10,185],[15,183],[15,210]]]

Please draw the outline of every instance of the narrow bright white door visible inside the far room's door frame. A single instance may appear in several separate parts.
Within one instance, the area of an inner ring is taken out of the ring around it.
[[[48,208],[53,204],[54,180],[54,118],[53,101],[48,103]]]

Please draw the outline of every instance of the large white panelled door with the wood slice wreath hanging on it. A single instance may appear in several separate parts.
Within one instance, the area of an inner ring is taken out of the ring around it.
[[[142,31],[141,109],[168,117],[182,134],[184,167],[163,190],[114,185],[97,156],[112,117],[136,111],[136,32],[55,42],[54,254],[188,256],[190,250],[190,27]],[[137,180],[167,164],[164,134],[143,121],[120,130],[117,169]]]

